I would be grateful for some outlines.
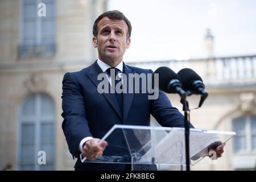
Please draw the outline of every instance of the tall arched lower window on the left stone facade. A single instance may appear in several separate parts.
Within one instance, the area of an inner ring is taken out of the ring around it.
[[[46,152],[46,164],[38,164],[38,152]],[[22,101],[19,113],[20,170],[55,169],[55,106],[46,94],[32,94]]]

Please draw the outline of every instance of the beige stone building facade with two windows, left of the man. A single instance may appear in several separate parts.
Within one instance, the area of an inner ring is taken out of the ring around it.
[[[75,164],[61,129],[61,81],[97,58],[92,25],[107,1],[44,1],[46,16],[40,2],[0,2],[0,168]],[[39,151],[48,165],[35,164]]]

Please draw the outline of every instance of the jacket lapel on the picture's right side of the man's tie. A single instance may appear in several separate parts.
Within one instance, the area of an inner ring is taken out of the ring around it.
[[[128,93],[129,92],[129,79],[131,79],[131,75],[129,77],[129,73],[135,73],[135,71],[132,71],[129,67],[123,63],[123,73],[126,75],[127,78],[127,93],[123,94],[123,123],[126,123],[127,115],[129,113],[131,102],[133,102],[133,95],[134,93]]]

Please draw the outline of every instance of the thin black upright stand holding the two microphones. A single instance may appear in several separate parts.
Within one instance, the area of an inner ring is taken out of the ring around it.
[[[187,93],[189,96],[191,93]],[[190,158],[189,158],[189,106],[186,97],[181,97],[181,104],[183,104],[184,111],[184,126],[185,126],[185,155],[186,155],[186,170],[190,171]]]

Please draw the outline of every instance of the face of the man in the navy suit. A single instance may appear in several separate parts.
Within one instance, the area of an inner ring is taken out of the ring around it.
[[[123,59],[126,48],[128,26],[124,20],[112,20],[104,17],[98,22],[97,38],[93,37],[93,46],[98,48],[98,57],[106,64],[116,66]]]

